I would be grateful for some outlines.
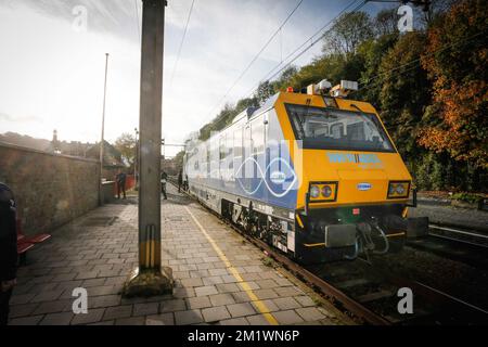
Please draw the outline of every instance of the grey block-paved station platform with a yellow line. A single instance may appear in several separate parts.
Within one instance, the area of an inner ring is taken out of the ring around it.
[[[9,324],[352,324],[170,184],[162,200],[162,258],[172,268],[174,294],[123,298],[137,266],[137,216],[129,195],[52,232],[18,269]],[[88,292],[88,313],[73,312],[76,287]]]

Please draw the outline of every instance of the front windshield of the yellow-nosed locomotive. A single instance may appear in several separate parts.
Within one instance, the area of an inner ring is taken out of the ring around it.
[[[373,114],[291,104],[286,111],[305,149],[395,151]]]

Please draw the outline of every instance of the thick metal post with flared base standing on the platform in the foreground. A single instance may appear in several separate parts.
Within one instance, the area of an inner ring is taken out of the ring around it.
[[[160,264],[160,138],[165,0],[142,0],[139,118],[139,267],[124,294],[172,293],[171,269]]]

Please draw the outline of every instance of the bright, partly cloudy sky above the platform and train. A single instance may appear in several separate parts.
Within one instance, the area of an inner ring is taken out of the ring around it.
[[[192,1],[168,0],[166,8],[163,137],[172,144],[215,118],[226,102],[247,97],[352,0],[304,0],[224,100],[299,0],[194,0],[176,64]],[[362,10],[374,14],[384,7],[368,3]],[[62,141],[99,141],[105,53],[105,139],[133,133],[141,18],[141,0],[0,0],[0,133],[51,139],[56,129]],[[318,43],[294,64],[307,64],[320,51]]]

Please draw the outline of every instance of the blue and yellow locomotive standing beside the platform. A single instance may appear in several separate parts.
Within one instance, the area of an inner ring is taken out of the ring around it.
[[[411,176],[357,83],[323,80],[247,108],[187,147],[191,194],[301,262],[401,246]]]

